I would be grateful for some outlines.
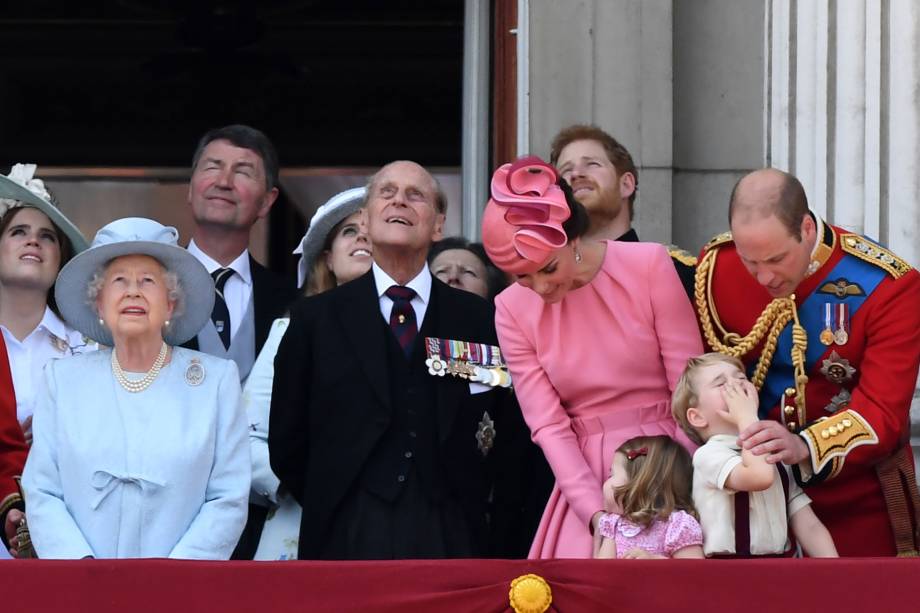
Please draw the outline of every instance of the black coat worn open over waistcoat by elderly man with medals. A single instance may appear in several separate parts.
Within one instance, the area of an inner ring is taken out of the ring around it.
[[[491,306],[432,280],[425,326],[439,338],[497,345]],[[298,301],[275,358],[269,423],[271,466],[303,505],[300,559],[321,556],[338,505],[355,485],[393,419],[383,324],[373,271]],[[423,342],[419,337],[416,342]],[[495,391],[471,394],[469,382],[436,381],[435,446],[451,501],[459,504],[488,553],[489,458],[477,448],[483,412],[496,423],[496,447],[507,422]],[[510,437],[509,437],[510,438]]]

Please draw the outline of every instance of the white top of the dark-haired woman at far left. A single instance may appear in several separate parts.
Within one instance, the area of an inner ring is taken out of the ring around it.
[[[0,326],[9,357],[13,389],[16,392],[16,419],[20,423],[35,412],[38,390],[45,384],[42,371],[49,360],[94,351],[96,343],[84,340],[47,306],[42,320],[22,341],[6,326]]]

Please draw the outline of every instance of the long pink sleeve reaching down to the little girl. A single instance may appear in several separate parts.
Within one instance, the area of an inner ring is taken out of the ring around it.
[[[601,481],[585,460],[571,418],[540,366],[533,345],[515,320],[513,305],[501,294],[495,299],[495,306],[495,328],[502,355],[511,370],[531,437],[543,450],[569,506],[589,526],[594,514],[604,509]]]

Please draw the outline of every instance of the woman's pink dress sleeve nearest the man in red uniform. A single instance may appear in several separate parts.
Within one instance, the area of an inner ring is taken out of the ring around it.
[[[654,257],[649,258],[648,279],[661,362],[673,392],[687,360],[703,353],[703,340],[693,306],[664,247],[655,249]],[[696,443],[679,427],[675,439],[691,454],[696,450]]]

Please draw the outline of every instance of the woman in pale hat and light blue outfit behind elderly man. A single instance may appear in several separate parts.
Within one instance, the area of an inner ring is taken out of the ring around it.
[[[310,220],[310,227],[294,250],[295,255],[301,256],[297,283],[304,287],[307,296],[357,279],[370,270],[373,248],[364,223],[365,196],[363,187],[345,190],[319,207]],[[252,453],[250,500],[271,508],[256,551],[257,560],[297,558],[300,505],[291,496],[278,491],[278,477],[268,463],[268,410],[274,361],[288,321],[282,318],[272,324],[243,390]]]

